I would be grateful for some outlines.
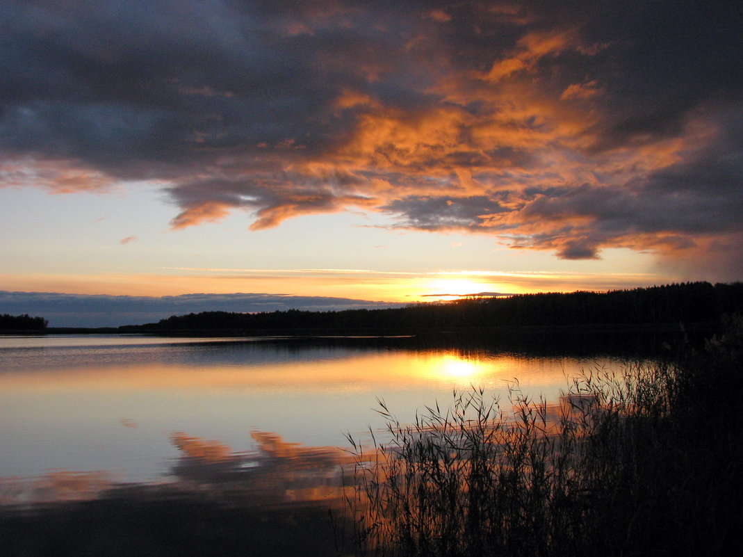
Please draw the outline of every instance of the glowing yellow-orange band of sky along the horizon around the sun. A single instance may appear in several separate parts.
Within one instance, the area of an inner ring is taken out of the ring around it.
[[[0,274],[2,290],[7,292],[143,297],[270,294],[398,304],[458,300],[481,293],[605,292],[658,282],[658,277],[652,274],[363,268],[166,267],[146,274]]]

